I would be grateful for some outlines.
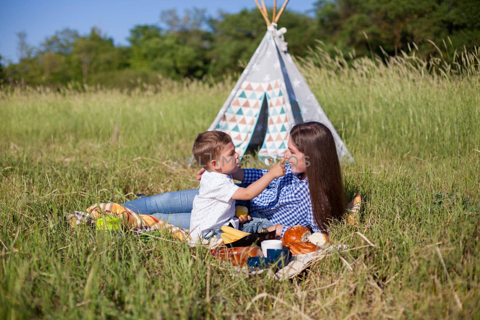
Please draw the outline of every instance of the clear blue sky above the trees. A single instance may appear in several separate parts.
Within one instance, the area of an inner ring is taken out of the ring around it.
[[[306,12],[316,0],[290,0],[287,9]],[[260,0],[259,0],[259,3]],[[273,6],[273,0],[265,0]],[[283,0],[277,0],[277,6]],[[87,34],[99,27],[115,44],[127,44],[126,37],[135,24],[158,24],[162,10],[175,8],[179,14],[186,8],[205,8],[215,15],[218,10],[239,12],[256,7],[254,0],[0,0],[0,55],[2,64],[17,62],[18,32],[27,34],[29,45],[37,47],[47,36],[63,28]],[[259,19],[262,19],[259,13]]]

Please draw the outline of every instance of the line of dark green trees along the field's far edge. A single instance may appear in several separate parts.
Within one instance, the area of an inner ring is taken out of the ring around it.
[[[312,12],[286,11],[279,27],[289,52],[306,57],[322,43],[329,53],[396,55],[416,47],[422,56],[480,45],[478,0],[319,0]],[[63,29],[38,47],[19,33],[18,63],[0,64],[0,83],[60,86],[67,83],[134,86],[158,76],[219,79],[241,71],[265,33],[257,9],[209,16],[193,8],[160,13],[160,24],[135,25],[129,45],[115,46],[96,27],[80,35]],[[1,62],[1,58],[0,58]]]

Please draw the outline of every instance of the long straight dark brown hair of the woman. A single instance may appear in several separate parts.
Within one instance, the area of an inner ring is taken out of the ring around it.
[[[332,132],[319,122],[309,121],[295,125],[290,139],[310,162],[305,173],[313,218],[326,231],[327,221],[340,218],[345,210],[345,189]]]

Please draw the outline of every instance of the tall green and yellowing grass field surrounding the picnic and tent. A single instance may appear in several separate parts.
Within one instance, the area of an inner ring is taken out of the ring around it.
[[[98,201],[196,188],[197,169],[171,157],[190,155],[231,80],[3,88],[0,319],[478,319],[480,54],[348,67],[316,55],[302,71],[355,158],[348,195],[365,204],[359,228],[331,226],[349,250],[284,282],[168,235],[74,234],[64,220]]]

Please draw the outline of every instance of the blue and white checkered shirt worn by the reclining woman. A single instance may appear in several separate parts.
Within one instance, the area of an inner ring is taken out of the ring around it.
[[[267,169],[243,169],[243,184],[249,185],[261,178]],[[274,179],[256,198],[250,201],[252,213],[264,214],[273,224],[283,225],[282,235],[293,225],[311,225],[313,231],[320,228],[313,219],[312,201],[308,189],[308,178],[292,172],[288,162],[285,176]]]

